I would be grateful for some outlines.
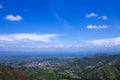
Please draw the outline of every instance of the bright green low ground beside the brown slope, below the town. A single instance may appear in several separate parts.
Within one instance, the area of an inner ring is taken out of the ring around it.
[[[21,71],[28,74],[30,77],[40,78],[42,80],[61,80],[53,70],[40,69],[40,68],[20,68]]]

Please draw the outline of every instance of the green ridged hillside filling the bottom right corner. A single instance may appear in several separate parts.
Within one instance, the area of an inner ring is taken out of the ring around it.
[[[99,66],[84,70],[81,73],[83,80],[120,80],[120,69],[115,66]]]

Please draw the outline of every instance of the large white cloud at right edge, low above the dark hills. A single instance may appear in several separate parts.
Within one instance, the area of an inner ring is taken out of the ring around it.
[[[110,39],[98,39],[89,42],[95,46],[100,46],[100,47],[120,46],[120,37],[115,37]]]

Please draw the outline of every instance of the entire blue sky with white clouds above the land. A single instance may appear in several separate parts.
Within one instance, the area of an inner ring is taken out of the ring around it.
[[[119,0],[0,0],[0,51],[120,52]]]

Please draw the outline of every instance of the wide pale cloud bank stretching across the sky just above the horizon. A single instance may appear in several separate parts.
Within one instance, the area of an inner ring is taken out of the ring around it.
[[[7,34],[0,35],[0,50],[108,50],[111,48],[120,48],[120,37],[84,40],[78,44],[71,44],[57,41],[60,34]],[[117,49],[118,50],[118,49]]]

